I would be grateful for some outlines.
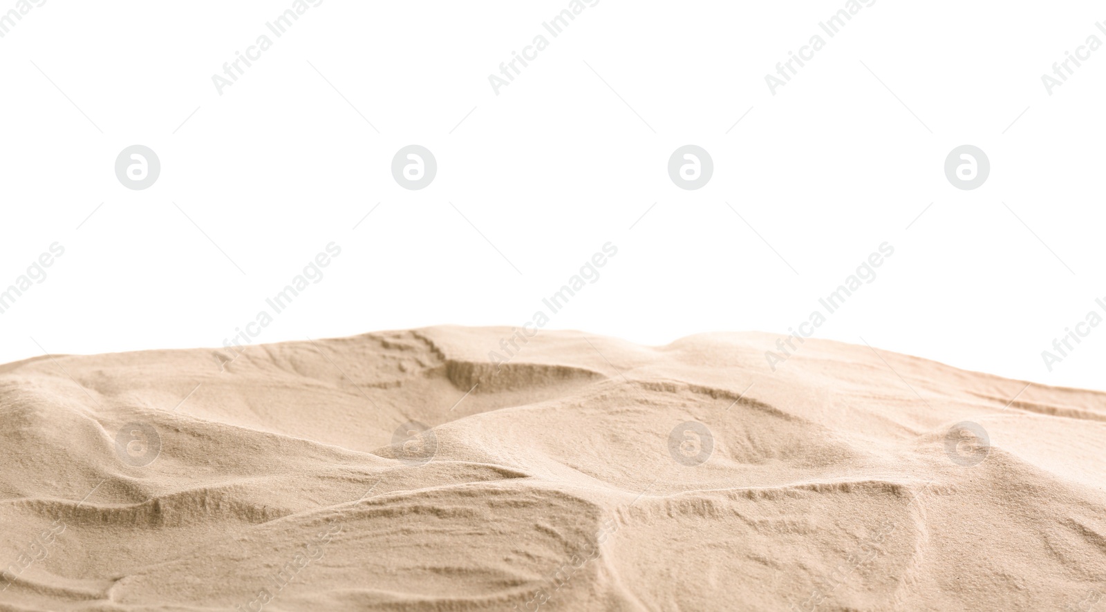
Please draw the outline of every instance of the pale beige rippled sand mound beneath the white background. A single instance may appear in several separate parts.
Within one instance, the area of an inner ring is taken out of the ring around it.
[[[763,334],[497,373],[510,334],[0,367],[0,610],[1106,610],[1104,393]]]

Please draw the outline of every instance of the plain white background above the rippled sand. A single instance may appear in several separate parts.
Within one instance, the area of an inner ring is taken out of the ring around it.
[[[326,0],[276,39],[291,6],[50,0],[0,39],[0,285],[65,247],[0,315],[0,360],[221,346],[331,241],[325,278],[255,341],[522,325],[608,241],[547,328],[786,333],[888,241],[816,337],[1106,388],[1106,326],[1052,372],[1041,357],[1106,298],[1106,49],[1051,96],[1041,81],[1106,41],[1100,3],[879,0],[830,39],[843,1],[602,0],[553,39],[563,0]],[[773,96],[764,75],[813,34]],[[161,162],[143,191],[114,173],[134,144]],[[390,175],[409,144],[438,161],[420,191]],[[686,144],[713,158],[697,191],[667,175]],[[973,191],[943,175],[963,144],[991,161]]]

